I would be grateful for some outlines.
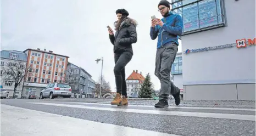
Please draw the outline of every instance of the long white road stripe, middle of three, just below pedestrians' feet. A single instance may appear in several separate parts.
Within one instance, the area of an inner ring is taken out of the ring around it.
[[[81,108],[81,109],[92,109],[92,110],[133,112],[133,113],[139,113],[139,114],[211,117],[211,118],[226,118],[226,119],[233,119],[233,120],[255,121],[255,115],[217,114],[217,113],[203,113],[203,112],[181,112],[181,111],[160,111],[160,110],[139,110],[139,109],[119,109],[119,108],[111,108],[111,107],[93,107],[93,106],[85,106],[85,105],[69,105],[69,104],[55,104],[55,103],[31,103],[31,104],[76,107],[76,108]]]

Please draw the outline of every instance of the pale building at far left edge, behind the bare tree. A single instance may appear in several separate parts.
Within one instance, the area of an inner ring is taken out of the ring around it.
[[[15,67],[19,67],[18,66],[19,64],[19,65],[23,65],[22,67],[24,67],[24,69],[21,68],[22,70],[19,70],[19,72],[23,72],[21,73],[21,75],[24,75],[26,61],[27,61],[27,55],[24,52],[19,52],[16,50],[1,51],[1,89],[7,91],[7,97],[9,98],[13,97],[15,81],[13,79],[9,79],[9,78],[7,79],[7,77],[9,76],[6,76],[4,73],[6,73],[6,71],[11,72],[11,70],[8,68],[9,67],[8,65],[12,65],[12,66],[16,65],[13,67],[15,69]],[[21,80],[20,84],[18,84],[18,87],[16,88],[15,98],[21,97],[22,88],[23,88],[23,80]]]

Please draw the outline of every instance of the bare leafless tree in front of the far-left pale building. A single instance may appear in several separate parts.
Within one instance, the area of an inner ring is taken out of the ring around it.
[[[24,61],[12,61],[5,63],[1,69],[2,78],[1,80],[6,81],[14,81],[14,91],[13,98],[15,97],[16,88],[23,83],[24,79],[27,76],[31,76],[31,72],[29,71],[30,67],[26,67],[26,62]]]

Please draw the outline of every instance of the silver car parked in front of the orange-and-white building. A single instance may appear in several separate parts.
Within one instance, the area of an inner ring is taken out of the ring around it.
[[[40,99],[43,99],[43,98],[53,99],[58,96],[65,97],[65,98],[71,97],[71,87],[69,86],[69,84],[51,83],[51,84],[48,84],[48,86],[45,89],[41,90],[40,92]]]

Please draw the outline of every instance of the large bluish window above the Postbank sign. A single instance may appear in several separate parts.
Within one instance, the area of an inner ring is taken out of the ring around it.
[[[183,35],[225,26],[223,0],[181,0],[171,3],[172,13],[183,19]]]

